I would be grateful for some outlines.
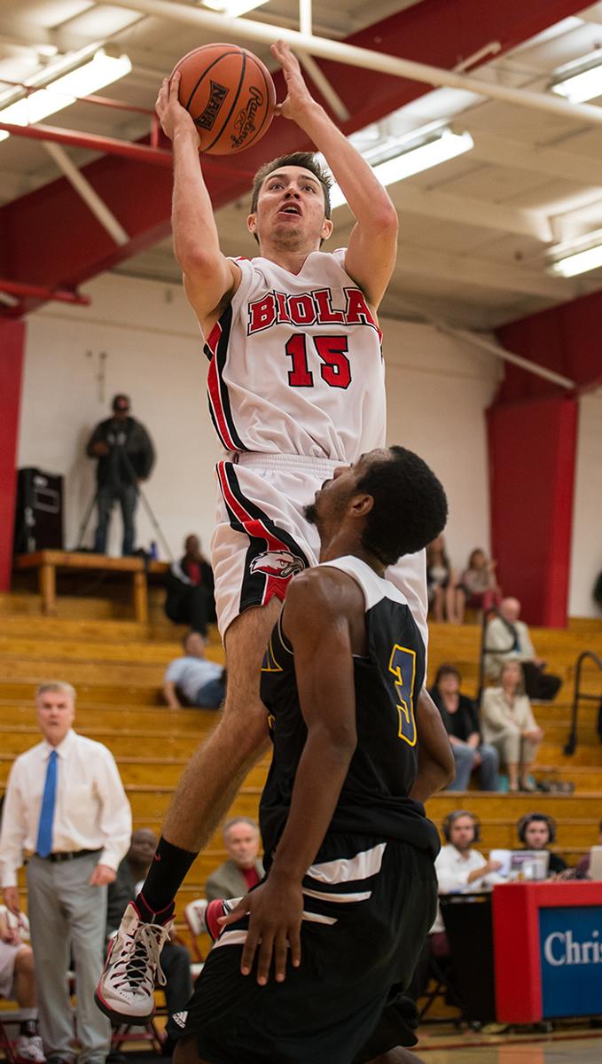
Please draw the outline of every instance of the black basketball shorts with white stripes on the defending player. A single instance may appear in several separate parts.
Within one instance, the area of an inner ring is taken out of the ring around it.
[[[415,1044],[403,1004],[391,1001],[409,985],[435,917],[432,857],[407,843],[329,835],[303,893],[301,965],[284,983],[240,975],[247,918],[214,945],[187,1010],[169,1023],[175,1037],[196,1035],[201,1060],[361,1064],[367,1044]]]

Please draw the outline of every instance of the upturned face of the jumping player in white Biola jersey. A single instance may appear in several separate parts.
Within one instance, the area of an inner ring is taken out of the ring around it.
[[[315,250],[332,233],[324,216],[324,193],[318,179],[302,166],[283,166],[269,173],[262,185],[249,229],[260,246],[274,244],[286,250]]]

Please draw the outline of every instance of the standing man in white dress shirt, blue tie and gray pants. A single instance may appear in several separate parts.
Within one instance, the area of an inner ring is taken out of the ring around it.
[[[102,969],[106,887],[124,857],[132,814],[113,754],[71,725],[76,692],[46,683],[35,699],[44,741],[20,754],[6,785],[0,834],[5,905],[20,910],[17,871],[24,853],[39,1026],[51,1064],[72,1064],[67,985],[76,963],[80,1064],[103,1064],[111,1026],[94,1003]]]

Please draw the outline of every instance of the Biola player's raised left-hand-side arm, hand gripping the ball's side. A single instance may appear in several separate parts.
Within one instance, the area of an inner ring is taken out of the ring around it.
[[[156,113],[173,145],[173,250],[184,272],[186,296],[201,326],[232,296],[240,270],[222,254],[217,227],[201,167],[199,137],[188,112],[180,104],[180,73],[164,79]]]

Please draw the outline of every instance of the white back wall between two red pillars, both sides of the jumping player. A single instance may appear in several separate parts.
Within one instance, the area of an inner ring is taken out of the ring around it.
[[[113,395],[126,392],[155,442],[157,464],[145,492],[171,550],[179,551],[193,530],[208,547],[219,449],[194,315],[174,285],[106,275],[86,290],[91,306],[55,303],[29,319],[19,466],[66,476],[66,546],[73,547],[94,492],[95,463],[84,455],[88,434],[108,415]],[[494,398],[500,366],[428,326],[381,325],[389,443],[421,453],[442,480],[451,512],[448,546],[461,568],[472,547],[489,546],[484,410]],[[143,508],[137,528],[139,544],[155,538]],[[119,533],[117,518],[114,553]]]

